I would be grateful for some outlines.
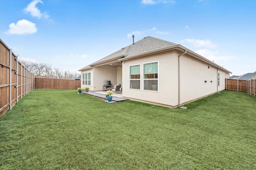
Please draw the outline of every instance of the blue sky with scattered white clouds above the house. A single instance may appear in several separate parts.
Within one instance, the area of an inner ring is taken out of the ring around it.
[[[78,69],[146,36],[242,75],[256,71],[256,0],[0,0],[0,38],[19,58]]]

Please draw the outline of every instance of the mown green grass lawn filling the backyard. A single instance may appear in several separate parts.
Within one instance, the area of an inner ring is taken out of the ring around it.
[[[0,117],[0,169],[256,169],[256,97],[170,109],[34,90]]]

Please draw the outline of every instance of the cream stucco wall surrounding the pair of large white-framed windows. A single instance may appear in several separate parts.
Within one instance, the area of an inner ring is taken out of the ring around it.
[[[158,61],[159,91],[143,90],[143,63]],[[130,65],[140,64],[140,89],[130,89]],[[122,96],[163,105],[178,105],[178,57],[175,51],[156,53],[122,63]]]

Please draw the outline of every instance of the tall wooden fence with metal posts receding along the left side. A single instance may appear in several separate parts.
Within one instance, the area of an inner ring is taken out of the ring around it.
[[[34,74],[18,62],[12,49],[0,39],[0,116],[33,89]]]

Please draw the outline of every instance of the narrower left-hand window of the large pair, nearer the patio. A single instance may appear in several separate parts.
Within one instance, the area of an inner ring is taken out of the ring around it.
[[[140,64],[130,65],[130,89],[140,89]]]

